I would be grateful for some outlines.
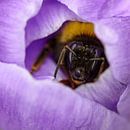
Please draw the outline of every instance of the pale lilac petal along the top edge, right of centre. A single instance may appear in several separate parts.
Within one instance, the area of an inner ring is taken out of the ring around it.
[[[111,16],[130,16],[129,0],[58,0],[87,21]]]

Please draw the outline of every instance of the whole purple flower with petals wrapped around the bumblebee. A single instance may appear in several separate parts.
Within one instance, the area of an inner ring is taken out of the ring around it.
[[[129,8],[129,0],[1,0],[0,129],[130,130]],[[76,90],[51,79],[50,58],[29,73],[44,37],[67,20],[93,22],[110,63]]]

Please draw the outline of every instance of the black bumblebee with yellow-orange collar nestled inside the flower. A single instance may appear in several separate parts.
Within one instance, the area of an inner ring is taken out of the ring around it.
[[[67,21],[53,34],[32,65],[32,73],[37,71],[45,57],[52,53],[58,69],[62,68],[67,80],[60,82],[75,89],[79,85],[94,82],[109,66],[104,47],[94,33],[94,25],[89,22]]]

